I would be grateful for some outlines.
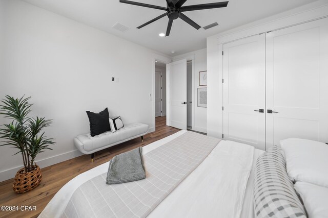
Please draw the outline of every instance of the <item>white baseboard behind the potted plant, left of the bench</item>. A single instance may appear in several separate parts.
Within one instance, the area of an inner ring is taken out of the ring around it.
[[[66,152],[63,154],[58,154],[58,155],[55,155],[55,156],[52,156],[49,158],[35,160],[35,162],[40,168],[44,168],[44,167],[51,166],[53,164],[60,163],[65,160],[69,160],[69,159],[72,159],[74,157],[78,157],[81,155],[83,155],[83,154],[81,152],[79,152],[78,150],[73,150],[73,151]],[[0,182],[14,178],[18,169],[20,169],[22,167],[23,167],[23,165],[20,165],[20,166],[16,166],[16,167],[6,169],[5,171],[0,172]]]

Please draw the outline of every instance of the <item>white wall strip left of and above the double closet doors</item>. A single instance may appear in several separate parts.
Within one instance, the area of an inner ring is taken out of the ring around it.
[[[328,16],[328,4],[327,1],[320,0],[207,38],[207,133],[209,136],[222,138],[223,44],[325,16]]]

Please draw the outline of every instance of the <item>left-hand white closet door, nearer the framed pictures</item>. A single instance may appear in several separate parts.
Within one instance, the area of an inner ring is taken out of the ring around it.
[[[223,135],[265,149],[265,36],[223,45]]]

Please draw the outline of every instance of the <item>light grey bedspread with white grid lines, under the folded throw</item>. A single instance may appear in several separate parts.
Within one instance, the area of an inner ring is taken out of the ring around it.
[[[146,179],[106,184],[101,174],[78,187],[62,217],[145,217],[211,153],[220,139],[193,132],[144,156]]]

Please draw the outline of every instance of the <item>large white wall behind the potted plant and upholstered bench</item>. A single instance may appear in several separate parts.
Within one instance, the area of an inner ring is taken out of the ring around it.
[[[54,120],[46,134],[56,144],[37,157],[37,164],[81,155],[73,138],[90,131],[87,110],[108,107],[110,116],[120,115],[125,123],[152,127],[154,51],[25,2],[0,2],[0,23],[5,23],[0,26],[0,98],[32,96],[31,115]],[[4,123],[9,120],[1,117]],[[0,181],[22,167],[22,157],[14,153],[0,147]]]

